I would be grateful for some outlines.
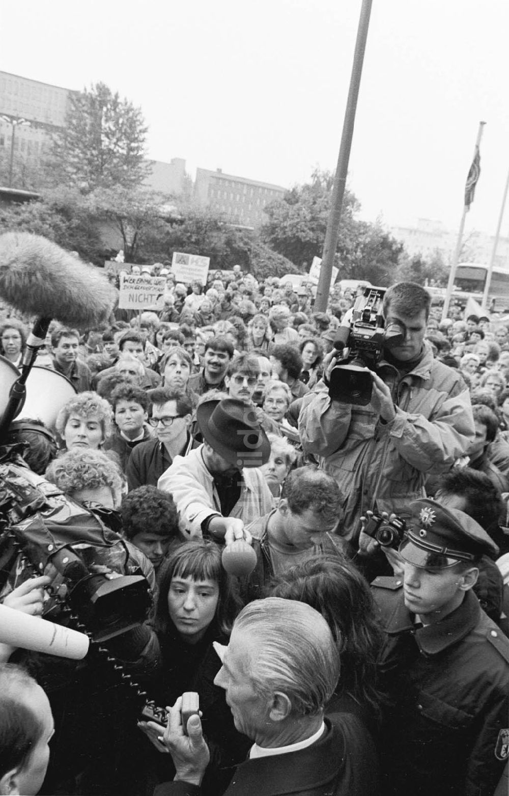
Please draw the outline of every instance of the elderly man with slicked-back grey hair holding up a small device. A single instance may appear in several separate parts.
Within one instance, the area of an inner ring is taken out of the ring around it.
[[[376,793],[369,733],[352,714],[324,716],[340,659],[317,611],[278,597],[255,600],[236,618],[228,646],[215,647],[223,665],[214,682],[226,692],[235,728],[254,741],[224,796]],[[179,698],[160,731],[177,773],[154,796],[197,796],[209,760],[200,718],[188,719],[186,736]]]

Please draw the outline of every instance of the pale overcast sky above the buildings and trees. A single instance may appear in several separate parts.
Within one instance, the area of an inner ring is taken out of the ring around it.
[[[0,69],[142,107],[148,155],[289,187],[336,166],[361,0],[0,0]],[[373,0],[350,159],[362,216],[493,233],[509,169],[509,2]],[[503,234],[509,231],[509,214]]]

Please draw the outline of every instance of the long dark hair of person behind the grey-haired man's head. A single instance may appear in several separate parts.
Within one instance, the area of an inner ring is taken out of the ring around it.
[[[340,556],[310,556],[274,577],[266,596],[300,600],[321,613],[340,651],[341,674],[327,712],[354,713],[376,735],[383,696],[378,685],[382,632],[370,587]]]

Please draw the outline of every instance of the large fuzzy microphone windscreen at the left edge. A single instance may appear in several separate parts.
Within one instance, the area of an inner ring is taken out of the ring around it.
[[[0,235],[0,296],[17,310],[78,328],[107,320],[116,291],[98,268],[39,235]]]

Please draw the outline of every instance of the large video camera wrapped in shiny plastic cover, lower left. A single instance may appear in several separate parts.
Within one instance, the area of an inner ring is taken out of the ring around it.
[[[33,576],[52,564],[57,575],[45,618],[61,624],[68,601],[99,643],[144,622],[151,606],[146,578],[126,574],[126,545],[105,519],[99,506],[75,503],[25,466],[0,461],[2,575],[21,566]]]

